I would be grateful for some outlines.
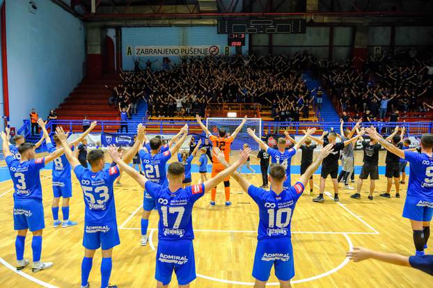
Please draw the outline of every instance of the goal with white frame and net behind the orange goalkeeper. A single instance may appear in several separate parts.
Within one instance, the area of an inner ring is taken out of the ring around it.
[[[233,134],[235,129],[239,127],[244,118],[207,118],[206,127],[212,135],[218,136],[218,129],[225,129],[228,134]],[[255,135],[260,138],[262,136],[262,119],[248,118],[244,127],[237,134],[235,141],[232,143],[232,150],[242,150],[244,143],[248,144],[252,150],[260,150],[258,143],[246,133],[246,129],[251,128],[255,131]]]

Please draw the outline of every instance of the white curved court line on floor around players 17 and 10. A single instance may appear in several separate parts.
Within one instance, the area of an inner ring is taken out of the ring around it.
[[[152,229],[150,231],[148,239],[149,239],[149,246],[150,246],[150,248],[156,253],[157,250],[155,248],[155,245],[153,244],[153,239],[152,239],[154,231],[155,231],[155,229]],[[194,231],[198,231],[198,230],[194,230]],[[221,230],[216,230],[216,231],[221,231]],[[210,232],[210,231],[207,231],[207,232]],[[251,232],[256,233],[256,231],[251,231]],[[305,234],[308,234],[308,232],[306,232]],[[322,233],[322,234],[328,234],[328,233]],[[347,235],[347,233],[344,233],[344,232],[340,233],[340,234],[343,234],[343,236],[345,237],[347,243],[349,244],[349,250],[352,251],[354,246],[353,246],[352,240],[350,239],[349,235]],[[374,233],[370,233],[370,234],[374,234]],[[297,284],[297,283],[310,282],[310,281],[313,281],[313,280],[324,278],[324,277],[329,276],[329,275],[331,275],[333,273],[336,273],[338,270],[342,269],[348,262],[349,262],[349,258],[345,257],[345,259],[343,260],[343,262],[341,262],[340,264],[338,264],[338,266],[334,267],[333,269],[331,269],[329,271],[326,271],[324,273],[321,273],[319,275],[315,275],[315,276],[312,276],[312,277],[309,277],[309,278],[290,281],[290,283],[291,284]],[[210,276],[203,275],[203,274],[200,274],[200,273],[197,273],[196,275],[198,277],[200,277],[200,278],[203,278],[203,279],[212,280],[212,281],[215,281],[215,282],[233,284],[233,285],[248,285],[248,286],[253,286],[255,284],[254,282],[240,282],[240,281],[234,281],[234,280],[226,280],[226,279],[214,278],[214,277],[210,277]],[[280,285],[280,282],[270,282],[270,283],[267,283],[267,286],[278,286],[278,285]]]

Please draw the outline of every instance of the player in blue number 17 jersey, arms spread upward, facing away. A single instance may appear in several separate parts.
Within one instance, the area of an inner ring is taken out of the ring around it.
[[[179,287],[189,287],[189,283],[196,279],[191,217],[194,203],[245,163],[251,149],[242,151],[235,163],[212,179],[202,184],[187,186],[185,189],[182,189],[182,181],[185,177],[184,166],[178,161],[168,166],[168,186],[164,186],[149,181],[129,167],[120,159],[116,147],[110,147],[109,153],[113,161],[116,161],[120,168],[143,187],[145,193],[157,200],[159,212],[159,241],[155,271],[157,287],[168,287],[173,271],[178,278]]]

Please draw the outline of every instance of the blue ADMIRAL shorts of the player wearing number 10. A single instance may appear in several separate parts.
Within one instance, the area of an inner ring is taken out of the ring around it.
[[[294,277],[292,241],[290,238],[262,239],[255,248],[253,277],[266,282],[274,266],[278,280],[288,281]]]

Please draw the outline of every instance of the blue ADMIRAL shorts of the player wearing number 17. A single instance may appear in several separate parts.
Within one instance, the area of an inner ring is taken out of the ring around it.
[[[179,285],[188,285],[196,279],[192,240],[159,240],[155,279],[168,285],[173,271]]]

